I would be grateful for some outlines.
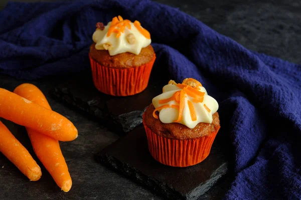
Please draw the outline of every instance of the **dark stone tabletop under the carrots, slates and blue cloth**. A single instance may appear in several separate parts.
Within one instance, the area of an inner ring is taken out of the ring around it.
[[[299,0],[156,1],[179,7],[251,50],[301,64],[301,56],[299,56],[301,54],[301,1]],[[5,4],[6,0],[0,1],[0,9]],[[46,94],[52,108],[72,120],[79,130],[79,137],[76,140],[61,142],[73,178],[73,187],[68,193],[61,192],[43,167],[42,178],[30,182],[0,154],[0,199],[161,199],[155,193],[94,160],[95,153],[121,135],[52,99],[48,94],[52,81],[51,78],[47,78],[32,83]],[[23,82],[0,75],[0,87],[9,90],[13,90]],[[37,160],[24,127],[3,121]],[[202,199],[222,198],[233,178],[231,173],[222,178]]]

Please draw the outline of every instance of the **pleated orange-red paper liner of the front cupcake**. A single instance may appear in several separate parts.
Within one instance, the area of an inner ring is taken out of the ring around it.
[[[150,154],[157,161],[170,166],[185,167],[203,161],[209,155],[218,132],[196,139],[170,139],[156,134],[144,123],[144,119],[142,121]]]

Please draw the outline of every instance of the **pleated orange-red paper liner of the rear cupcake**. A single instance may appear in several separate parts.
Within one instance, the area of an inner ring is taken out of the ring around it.
[[[140,93],[148,84],[154,58],[138,67],[113,68],[102,66],[90,57],[92,77],[95,87],[106,94],[114,96],[128,96]]]

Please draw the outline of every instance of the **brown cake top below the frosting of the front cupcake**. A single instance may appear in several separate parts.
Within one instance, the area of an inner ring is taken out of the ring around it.
[[[218,131],[220,127],[220,120],[218,112],[215,112],[212,117],[212,123],[198,123],[196,127],[189,128],[181,123],[163,123],[160,119],[156,119],[153,116],[155,107],[151,103],[145,111],[144,122],[152,129],[153,132],[160,136],[172,138],[172,139],[193,139],[202,136],[211,135],[212,132]]]

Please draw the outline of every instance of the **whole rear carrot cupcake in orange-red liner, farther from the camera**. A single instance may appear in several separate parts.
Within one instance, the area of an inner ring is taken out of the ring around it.
[[[149,32],[121,16],[96,27],[89,52],[95,87],[114,96],[143,91],[156,59]]]

